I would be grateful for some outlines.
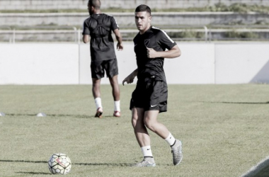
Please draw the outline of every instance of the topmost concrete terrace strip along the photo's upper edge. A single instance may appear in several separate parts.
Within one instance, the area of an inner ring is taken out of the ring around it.
[[[88,0],[0,0],[0,10],[8,9],[86,9]],[[268,0],[101,0],[102,8],[135,8],[147,4],[151,8],[189,8],[213,6],[222,2],[269,6]]]

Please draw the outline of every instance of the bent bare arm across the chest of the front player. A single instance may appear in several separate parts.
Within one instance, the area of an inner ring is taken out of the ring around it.
[[[152,48],[147,48],[147,57],[149,58],[176,58],[181,56],[181,50],[179,49],[178,45],[175,45],[171,48],[171,50],[157,52]]]

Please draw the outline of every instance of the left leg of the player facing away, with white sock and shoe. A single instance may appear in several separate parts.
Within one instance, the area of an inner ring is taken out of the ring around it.
[[[101,103],[101,90],[100,90],[101,79],[92,78],[92,81],[93,81],[93,88],[92,88],[93,98],[94,98],[94,101],[96,103],[96,115],[95,115],[95,117],[102,118],[103,106]]]

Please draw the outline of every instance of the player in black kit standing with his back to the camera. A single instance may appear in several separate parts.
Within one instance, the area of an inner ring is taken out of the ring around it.
[[[111,31],[118,40],[117,49],[122,50],[122,37],[117,22],[113,16],[101,13],[101,1],[89,0],[90,17],[84,21],[83,41],[87,43],[91,36],[91,77],[93,81],[93,98],[96,103],[96,118],[101,118],[103,106],[101,102],[101,78],[104,74],[109,78],[114,98],[113,116],[120,117],[120,88],[118,85],[118,62],[115,55]]]

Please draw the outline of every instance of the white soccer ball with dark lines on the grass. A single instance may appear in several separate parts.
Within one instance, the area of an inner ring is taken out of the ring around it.
[[[71,161],[66,154],[53,154],[47,163],[52,174],[65,175],[71,170]]]

